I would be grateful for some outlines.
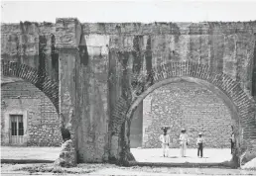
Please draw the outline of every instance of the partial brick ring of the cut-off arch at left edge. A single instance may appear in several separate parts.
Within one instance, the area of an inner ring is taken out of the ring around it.
[[[2,76],[22,78],[35,85],[52,101],[60,116],[59,83],[57,81],[51,79],[44,70],[42,72],[20,62],[2,59],[1,65]]]

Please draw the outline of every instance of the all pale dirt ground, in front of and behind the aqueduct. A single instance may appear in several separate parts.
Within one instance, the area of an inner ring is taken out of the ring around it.
[[[1,147],[1,159],[55,160],[60,147]],[[179,149],[170,149],[168,158],[161,149],[131,149],[137,161],[146,162],[222,162],[231,157],[229,149],[205,149],[204,158],[197,158],[196,150],[189,149],[188,157],[181,158]],[[172,167],[120,167],[113,164],[78,164],[74,168],[54,167],[53,164],[1,164],[1,175],[138,175],[138,176],[224,176],[256,175],[256,171],[220,168],[172,168]]]

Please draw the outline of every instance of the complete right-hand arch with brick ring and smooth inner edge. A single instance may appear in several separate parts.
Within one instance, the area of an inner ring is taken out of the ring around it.
[[[233,160],[238,164],[241,148],[252,148],[250,141],[256,139],[255,101],[227,74],[214,72],[208,65],[191,61],[168,62],[154,67],[150,73],[143,72],[132,80],[133,86],[127,88],[132,96],[121,96],[112,115],[111,157],[121,162],[134,159],[129,147],[129,123],[133,112],[150,92],[162,85],[180,80],[206,86],[221,97],[230,109],[237,139]]]

